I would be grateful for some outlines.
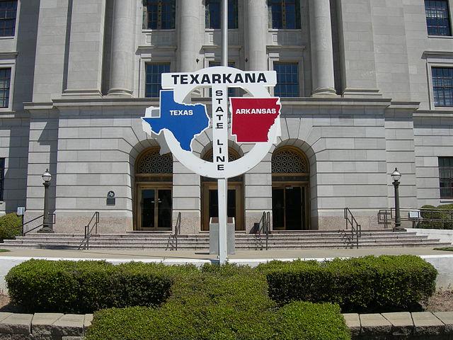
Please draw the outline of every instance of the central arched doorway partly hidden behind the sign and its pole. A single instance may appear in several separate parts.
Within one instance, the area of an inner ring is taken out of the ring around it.
[[[231,147],[228,149],[229,162],[239,159],[239,153]],[[202,157],[205,161],[212,162],[212,149]],[[226,214],[234,217],[236,230],[245,230],[243,224],[243,176],[228,180],[228,194]],[[210,217],[219,217],[219,200],[217,196],[217,179],[201,178],[201,215],[202,230],[210,229]]]

